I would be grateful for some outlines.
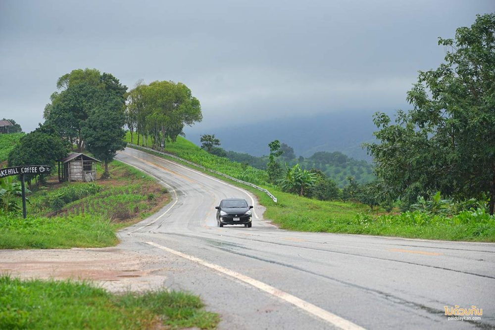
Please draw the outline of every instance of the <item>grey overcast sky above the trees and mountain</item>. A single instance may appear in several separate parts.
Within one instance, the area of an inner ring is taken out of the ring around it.
[[[205,130],[407,106],[438,37],[495,11],[493,0],[0,0],[0,119],[29,132],[56,80],[77,68],[173,80],[198,97]]]

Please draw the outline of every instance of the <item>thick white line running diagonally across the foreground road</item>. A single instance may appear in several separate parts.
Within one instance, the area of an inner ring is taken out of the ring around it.
[[[152,245],[154,247],[157,247],[159,249],[162,249],[162,250],[165,250],[167,252],[170,252],[172,254],[175,254],[179,257],[182,257],[182,258],[185,258],[185,259],[188,259],[188,260],[191,260],[193,262],[196,262],[202,266],[205,266],[205,267],[208,267],[210,269],[213,269],[219,273],[222,273],[222,274],[225,274],[225,275],[228,275],[228,276],[231,276],[239,281],[242,281],[242,282],[245,282],[247,284],[250,284],[262,291],[265,291],[277,298],[280,298],[284,301],[287,301],[288,303],[290,304],[293,304],[294,306],[296,307],[299,307],[300,309],[308,312],[309,314],[312,314],[328,323],[330,323],[331,325],[339,328],[339,329],[345,329],[345,330],[364,330],[364,328],[350,322],[350,321],[347,321],[346,319],[343,319],[341,318],[340,316],[337,316],[333,313],[330,313],[316,305],[313,305],[307,301],[304,301],[300,298],[297,298],[296,296],[293,296],[292,294],[289,294],[287,292],[284,292],[284,291],[281,291],[273,286],[270,286],[266,283],[263,283],[263,282],[260,282],[258,280],[255,280],[253,278],[250,278],[246,275],[243,275],[241,273],[238,273],[238,272],[235,272],[235,271],[232,271],[230,269],[227,269],[225,267],[222,267],[222,266],[219,266],[219,265],[215,265],[215,264],[211,264],[207,261],[204,261],[202,259],[199,259],[197,257],[194,257],[194,256],[191,256],[191,255],[188,255],[188,254],[185,254],[185,253],[182,253],[182,252],[179,252],[179,251],[176,251],[176,250],[173,250],[171,248],[168,248],[168,247],[165,247],[165,246],[162,246],[160,244],[156,244],[156,243],[153,243],[153,242],[146,242],[147,244],[149,245]]]

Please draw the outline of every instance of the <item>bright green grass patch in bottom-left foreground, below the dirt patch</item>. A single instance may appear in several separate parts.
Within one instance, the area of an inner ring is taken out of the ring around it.
[[[0,276],[0,329],[215,329],[218,315],[203,307],[183,292],[114,295],[88,282]]]

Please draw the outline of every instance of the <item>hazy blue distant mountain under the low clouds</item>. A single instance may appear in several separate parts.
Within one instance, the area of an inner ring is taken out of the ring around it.
[[[341,112],[312,117],[286,117],[234,127],[218,127],[199,132],[187,128],[186,138],[200,145],[199,136],[214,134],[225,150],[246,152],[261,156],[269,153],[268,143],[285,142],[294,148],[297,156],[310,157],[317,151],[340,151],[347,156],[371,161],[361,143],[374,141],[370,112]]]

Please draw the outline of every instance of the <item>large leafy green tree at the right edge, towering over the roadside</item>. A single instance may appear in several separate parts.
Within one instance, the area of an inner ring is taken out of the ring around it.
[[[456,30],[438,69],[420,71],[407,93],[413,108],[396,122],[377,113],[375,136],[366,143],[376,174],[408,204],[442,191],[456,199],[489,191],[495,208],[495,13]]]

